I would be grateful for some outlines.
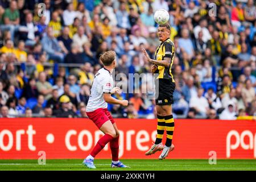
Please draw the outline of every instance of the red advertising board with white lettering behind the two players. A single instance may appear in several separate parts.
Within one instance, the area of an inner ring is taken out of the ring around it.
[[[115,122],[122,159],[158,158],[144,155],[156,137],[156,119]],[[101,136],[89,119],[1,118],[0,159],[84,159]],[[255,159],[256,122],[176,119],[173,143],[170,159]],[[97,158],[110,156],[106,146]]]

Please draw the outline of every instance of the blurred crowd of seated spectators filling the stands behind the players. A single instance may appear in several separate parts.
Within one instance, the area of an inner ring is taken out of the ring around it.
[[[45,6],[41,6],[42,4]],[[40,6],[39,6],[40,5]],[[256,115],[253,0],[1,0],[1,117],[86,117],[102,52],[117,53],[115,75],[150,73],[160,42],[154,12],[170,13],[176,54],[174,115],[236,119]],[[149,81],[135,82],[133,90]],[[115,117],[155,118],[150,92],[115,94]]]

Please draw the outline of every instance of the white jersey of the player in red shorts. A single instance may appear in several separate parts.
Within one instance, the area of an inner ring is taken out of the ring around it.
[[[113,86],[112,74],[108,69],[101,68],[94,76],[86,111],[91,112],[99,108],[107,108],[108,104],[105,102],[103,94],[111,93]]]

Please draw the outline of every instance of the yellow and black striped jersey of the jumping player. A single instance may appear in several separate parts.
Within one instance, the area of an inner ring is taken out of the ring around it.
[[[164,57],[171,57],[171,64],[168,68],[158,65],[158,69],[156,69],[155,73],[158,73],[159,75],[156,77],[156,79],[170,79],[172,82],[175,82],[171,73],[172,63],[174,63],[174,54],[175,46],[170,38],[164,40],[164,42],[158,46],[155,51],[155,60],[161,61],[164,60]]]

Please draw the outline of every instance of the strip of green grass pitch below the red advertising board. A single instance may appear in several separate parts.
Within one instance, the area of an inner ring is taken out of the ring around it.
[[[217,164],[210,165],[208,160],[178,160],[178,159],[123,159],[121,160],[131,168],[110,168],[110,159],[96,159],[94,164],[97,169],[88,169],[82,166],[82,159],[46,160],[45,165],[39,165],[38,160],[0,160],[0,171],[25,170],[25,171],[184,171],[184,170],[256,170],[256,160],[217,160]]]

